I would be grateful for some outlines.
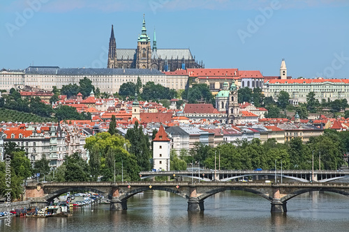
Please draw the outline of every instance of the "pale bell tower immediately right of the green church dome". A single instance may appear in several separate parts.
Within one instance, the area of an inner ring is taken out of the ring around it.
[[[241,123],[242,114],[239,103],[237,103],[237,86],[234,81],[232,81],[230,86],[228,102],[228,123],[233,125]]]

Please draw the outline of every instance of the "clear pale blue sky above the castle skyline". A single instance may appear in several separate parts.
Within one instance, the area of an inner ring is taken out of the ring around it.
[[[145,14],[158,48],[190,48],[205,68],[349,78],[347,0],[15,0],[0,2],[0,68],[105,68],[111,25],[135,48]]]

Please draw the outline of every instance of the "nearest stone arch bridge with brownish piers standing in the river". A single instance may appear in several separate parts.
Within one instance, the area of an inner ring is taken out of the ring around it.
[[[262,196],[271,203],[272,212],[286,212],[286,203],[299,194],[314,191],[335,192],[349,196],[348,183],[236,183],[236,182],[84,182],[30,183],[24,194],[32,203],[49,203],[57,196],[71,191],[96,192],[110,200],[110,209],[126,210],[127,199],[140,192],[161,190],[177,194],[188,202],[188,210],[204,210],[207,197],[227,190],[241,190]],[[349,199],[348,199],[349,200]]]

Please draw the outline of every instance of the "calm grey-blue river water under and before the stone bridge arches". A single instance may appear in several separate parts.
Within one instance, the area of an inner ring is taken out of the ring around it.
[[[313,192],[287,203],[288,212],[270,212],[270,203],[248,192],[227,191],[205,200],[205,211],[188,212],[185,199],[147,191],[128,199],[128,210],[92,205],[72,210],[68,218],[0,219],[0,231],[349,231],[349,198]]]

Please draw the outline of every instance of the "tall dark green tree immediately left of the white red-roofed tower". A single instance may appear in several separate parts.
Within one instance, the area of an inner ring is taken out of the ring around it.
[[[131,143],[130,153],[137,158],[138,166],[142,171],[150,170],[151,153],[149,139],[146,134],[143,133],[142,125],[138,127],[138,122],[135,122],[135,126],[132,129],[128,129],[125,135],[125,139],[128,139]]]

